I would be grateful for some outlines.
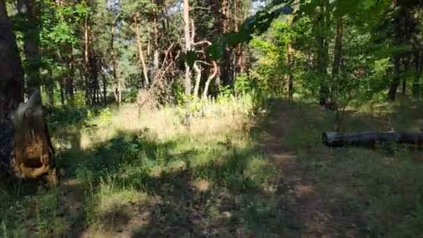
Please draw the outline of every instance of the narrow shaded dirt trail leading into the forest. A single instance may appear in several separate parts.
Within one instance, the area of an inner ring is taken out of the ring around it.
[[[289,130],[282,110],[274,109],[264,122],[260,148],[269,154],[280,170],[278,178],[279,212],[286,223],[279,237],[358,237],[358,228],[351,218],[333,214],[337,207],[319,193],[311,168],[305,168],[296,154],[283,145]],[[320,186],[322,184],[319,184]],[[333,184],[323,184],[331,186]]]

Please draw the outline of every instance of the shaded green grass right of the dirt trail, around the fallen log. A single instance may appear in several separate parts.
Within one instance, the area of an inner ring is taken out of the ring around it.
[[[330,200],[335,216],[352,219],[362,237],[420,237],[423,234],[423,153],[404,145],[367,148],[325,148],[321,132],[333,130],[333,115],[308,104],[279,104],[280,118],[290,120],[286,145],[308,170],[315,189]],[[375,104],[354,109],[346,117],[346,131],[419,132],[421,102]]]

